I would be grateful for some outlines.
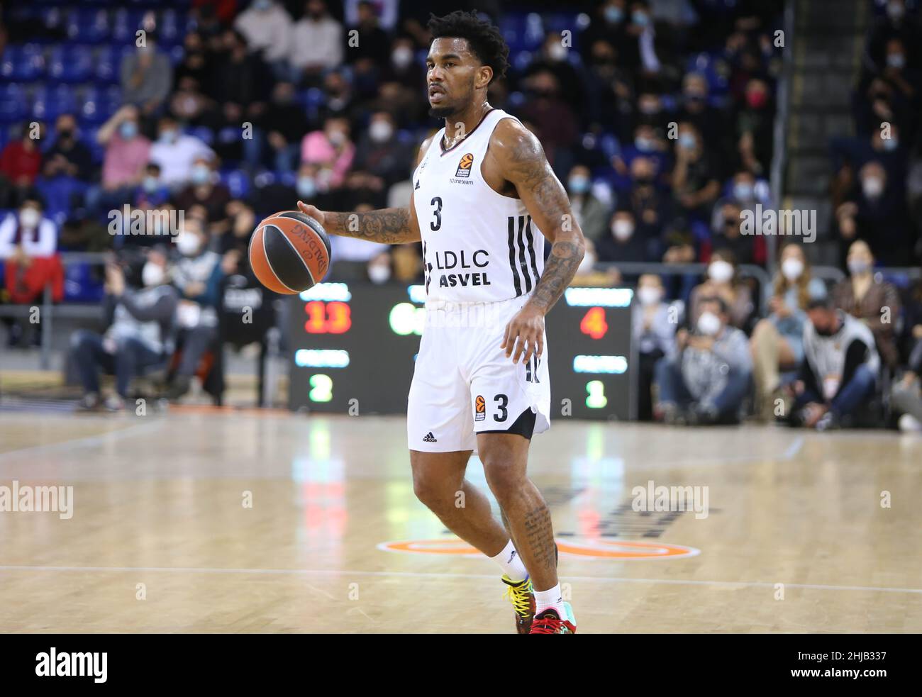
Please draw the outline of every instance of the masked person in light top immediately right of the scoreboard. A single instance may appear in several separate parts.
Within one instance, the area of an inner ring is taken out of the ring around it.
[[[670,313],[669,304],[663,299],[663,281],[656,274],[644,274],[637,282],[639,307],[632,313],[632,335],[640,359],[638,387],[638,419],[653,419],[653,401],[650,393],[653,387],[656,361],[671,354],[675,349],[678,309]]]

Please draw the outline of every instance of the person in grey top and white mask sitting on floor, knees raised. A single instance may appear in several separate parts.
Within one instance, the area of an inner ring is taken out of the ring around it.
[[[680,329],[675,349],[656,362],[656,417],[665,423],[739,423],[752,360],[746,335],[728,325],[727,303],[703,298],[693,332]]]

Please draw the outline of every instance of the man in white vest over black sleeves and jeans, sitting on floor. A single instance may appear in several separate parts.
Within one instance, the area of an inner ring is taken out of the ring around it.
[[[874,337],[830,299],[810,301],[807,314],[789,423],[818,431],[848,426],[874,396],[881,369]]]

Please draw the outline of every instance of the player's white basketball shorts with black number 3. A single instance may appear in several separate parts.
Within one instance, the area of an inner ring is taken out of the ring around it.
[[[548,343],[539,359],[514,363],[501,349],[506,324],[529,295],[500,302],[427,301],[413,383],[410,450],[477,450],[477,433],[506,431],[526,409],[534,433],[550,427]]]

